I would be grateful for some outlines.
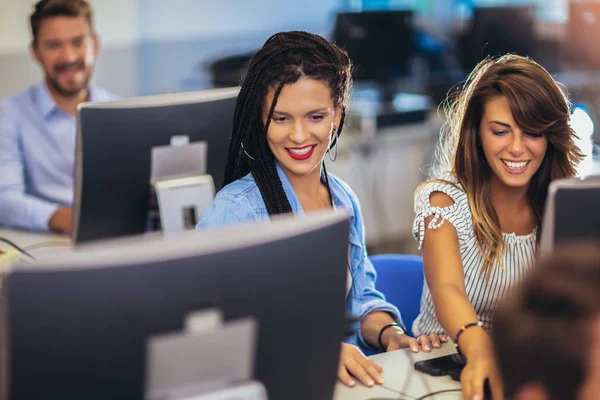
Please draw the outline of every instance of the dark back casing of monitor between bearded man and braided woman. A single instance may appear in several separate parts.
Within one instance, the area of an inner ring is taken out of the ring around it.
[[[73,199],[75,243],[146,230],[152,148],[174,136],[207,143],[215,189],[223,174],[239,88],[86,103],[79,108]]]

